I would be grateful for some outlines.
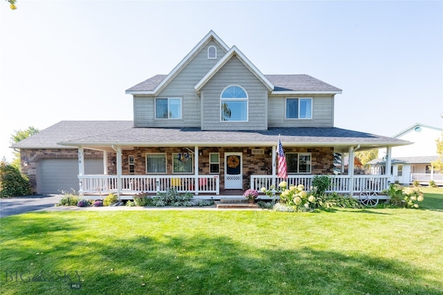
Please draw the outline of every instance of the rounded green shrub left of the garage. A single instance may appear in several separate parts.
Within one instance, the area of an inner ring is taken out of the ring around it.
[[[0,197],[30,195],[30,182],[16,167],[0,162]]]

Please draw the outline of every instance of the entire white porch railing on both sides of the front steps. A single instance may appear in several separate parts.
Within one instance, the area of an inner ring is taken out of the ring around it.
[[[289,175],[281,179],[272,175],[251,175],[250,188],[258,190],[271,185],[278,186],[280,181],[287,184],[302,184],[309,190],[314,175]],[[79,176],[82,195],[96,197],[115,193],[120,199],[132,199],[138,193],[156,194],[174,188],[179,193],[193,193],[200,197],[219,195],[241,195],[242,190],[220,190],[218,175],[82,175]],[[382,193],[390,184],[388,175],[334,175],[329,176],[330,184],[327,193],[336,192],[343,195],[358,195],[363,190]],[[264,194],[262,194],[264,197]]]

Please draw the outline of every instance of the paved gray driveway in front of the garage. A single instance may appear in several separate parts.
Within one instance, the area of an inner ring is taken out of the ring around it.
[[[0,199],[0,217],[27,213],[57,204],[61,195],[30,195]]]

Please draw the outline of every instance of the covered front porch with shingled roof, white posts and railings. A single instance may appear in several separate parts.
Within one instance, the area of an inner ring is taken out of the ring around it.
[[[280,136],[281,134],[281,136]],[[241,195],[248,188],[278,186],[278,138],[287,158],[289,185],[307,190],[314,177],[328,175],[327,192],[356,195],[363,190],[381,193],[392,181],[386,175],[334,175],[334,154],[354,158],[356,150],[408,144],[392,138],[338,128],[270,128],[259,132],[202,131],[195,128],[132,128],[114,136],[85,138],[63,145],[78,147],[79,193],[130,199],[138,193],[156,194],[175,188],[200,197]],[[103,152],[103,174],[85,175],[84,150]],[[183,161],[182,161],[183,160]]]

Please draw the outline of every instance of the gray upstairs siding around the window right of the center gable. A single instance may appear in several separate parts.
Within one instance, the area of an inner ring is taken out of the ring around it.
[[[286,98],[312,98],[312,119],[286,118]],[[269,127],[334,127],[334,96],[270,96]]]

